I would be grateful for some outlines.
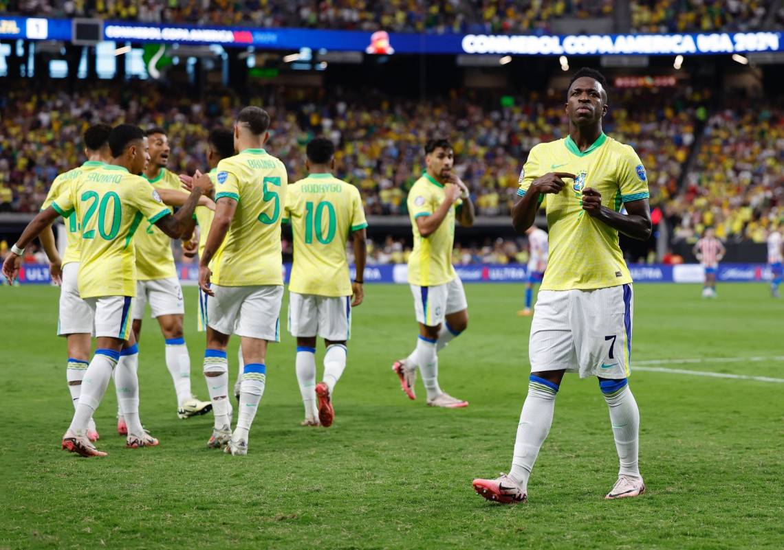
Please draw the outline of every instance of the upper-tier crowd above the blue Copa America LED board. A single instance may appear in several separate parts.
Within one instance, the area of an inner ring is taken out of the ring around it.
[[[548,33],[563,17],[612,17],[620,0],[0,0],[3,13],[147,23],[397,32]],[[633,32],[745,31],[772,0],[633,0]]]

